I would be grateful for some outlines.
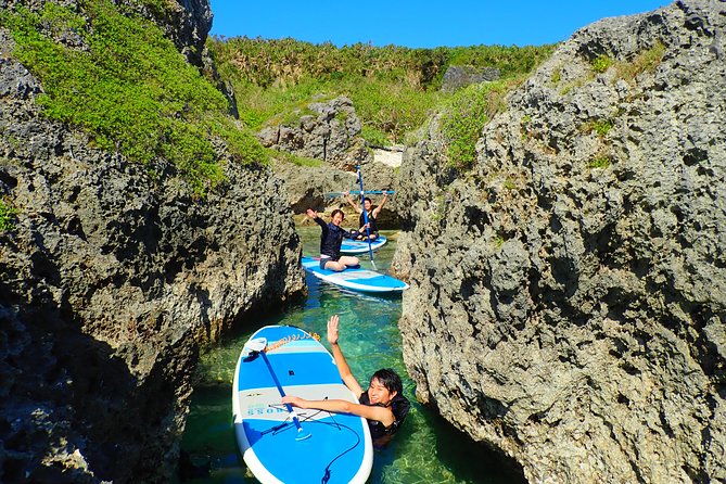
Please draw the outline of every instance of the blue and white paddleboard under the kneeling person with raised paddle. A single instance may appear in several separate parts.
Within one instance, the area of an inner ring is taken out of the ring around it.
[[[303,257],[303,268],[326,282],[354,291],[399,293],[408,289],[404,281],[361,267],[347,268],[341,272],[321,269],[319,257]]]

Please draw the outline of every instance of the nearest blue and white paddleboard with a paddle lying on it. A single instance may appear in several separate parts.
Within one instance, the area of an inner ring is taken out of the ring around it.
[[[255,332],[232,386],[237,442],[255,477],[263,484],[365,483],[373,464],[366,419],[301,408],[291,415],[281,393],[358,403],[332,355],[309,333],[291,326]]]

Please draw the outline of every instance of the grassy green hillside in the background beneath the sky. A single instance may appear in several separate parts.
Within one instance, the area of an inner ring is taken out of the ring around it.
[[[467,149],[461,139],[481,129],[484,117],[500,105],[493,93],[504,95],[543,60],[555,46],[407,49],[395,46],[375,48],[357,43],[336,48],[331,43],[313,44],[294,39],[263,40],[212,38],[207,42],[222,78],[237,93],[240,115],[252,129],[279,120],[280,113],[302,106],[314,95],[347,95],[364,124],[364,138],[373,144],[403,142],[407,133],[419,128],[438,111],[455,111],[469,101],[466,110],[475,119],[451,119],[447,125],[459,148],[453,163]],[[444,93],[442,78],[449,65],[496,67],[500,81],[485,88]],[[482,105],[485,102],[487,106]],[[467,124],[467,128],[460,126]],[[468,144],[464,143],[464,144]],[[469,150],[470,151],[470,150]],[[470,156],[468,153],[464,157]]]

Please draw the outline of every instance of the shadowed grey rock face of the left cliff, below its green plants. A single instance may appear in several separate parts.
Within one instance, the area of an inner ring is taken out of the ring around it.
[[[42,89],[0,27],[0,482],[167,482],[200,346],[304,291],[286,195],[228,157],[199,199],[43,118]]]

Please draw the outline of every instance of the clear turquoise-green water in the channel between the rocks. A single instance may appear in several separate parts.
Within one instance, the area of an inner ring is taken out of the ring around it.
[[[317,255],[320,229],[300,228],[303,253]],[[389,243],[374,254],[375,266],[386,271],[395,251],[396,232],[384,232]],[[368,255],[364,267],[371,267]],[[512,483],[522,482],[502,462],[472,444],[434,412],[416,403],[415,383],[408,378],[400,353],[400,297],[344,292],[308,276],[304,304],[283,314],[246,321],[239,334],[228,336],[202,356],[181,448],[195,466],[208,467],[208,476],[191,483],[255,483],[239,455],[231,419],[231,384],[242,345],[267,324],[293,324],[326,337],[328,318],[341,317],[340,343],[353,373],[364,387],[379,368],[393,368],[413,403],[394,441],[375,451],[369,483]],[[293,460],[291,459],[291,462]],[[304,481],[301,481],[304,482]]]

